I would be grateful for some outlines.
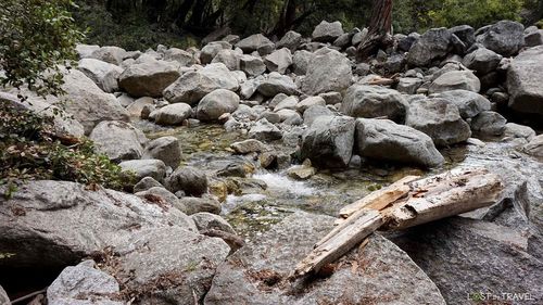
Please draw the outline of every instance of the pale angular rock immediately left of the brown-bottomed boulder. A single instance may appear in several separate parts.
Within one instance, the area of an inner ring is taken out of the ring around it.
[[[83,59],[77,64],[77,69],[85,73],[104,92],[118,91],[118,76],[123,73],[122,67],[94,59]]]

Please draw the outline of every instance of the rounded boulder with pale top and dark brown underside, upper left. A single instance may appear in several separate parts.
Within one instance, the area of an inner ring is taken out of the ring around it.
[[[162,97],[162,91],[179,77],[175,64],[165,61],[146,61],[132,64],[118,77],[118,85],[130,96]]]

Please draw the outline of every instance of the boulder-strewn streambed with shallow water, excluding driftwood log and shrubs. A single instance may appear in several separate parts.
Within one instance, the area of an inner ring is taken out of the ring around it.
[[[365,34],[323,22],[311,38],[201,49],[81,45],[65,97],[2,92],[137,181],[25,181],[1,198],[1,287],[47,287],[31,304],[541,304],[543,33],[395,35],[358,63]],[[500,200],[287,281],[342,206],[458,166],[497,174]]]

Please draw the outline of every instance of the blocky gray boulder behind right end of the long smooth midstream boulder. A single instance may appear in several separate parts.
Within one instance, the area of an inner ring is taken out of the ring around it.
[[[439,147],[464,142],[471,136],[469,125],[462,119],[458,107],[440,98],[412,101],[405,125],[430,136]]]

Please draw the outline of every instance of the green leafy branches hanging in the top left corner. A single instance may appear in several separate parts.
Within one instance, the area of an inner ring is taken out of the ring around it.
[[[3,86],[27,85],[40,96],[62,93],[59,64],[75,59],[84,35],[74,26],[71,0],[0,2],[0,75]]]

